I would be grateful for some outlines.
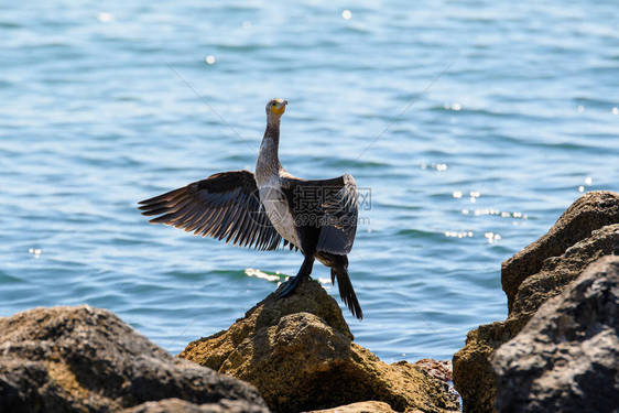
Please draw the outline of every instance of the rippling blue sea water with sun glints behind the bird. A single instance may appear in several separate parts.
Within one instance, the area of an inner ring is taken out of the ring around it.
[[[289,172],[371,192],[344,314],[385,361],[504,318],[501,261],[619,189],[615,1],[0,2],[0,315],[88,303],[175,354],[295,274],[137,210],[253,170],[273,97]]]

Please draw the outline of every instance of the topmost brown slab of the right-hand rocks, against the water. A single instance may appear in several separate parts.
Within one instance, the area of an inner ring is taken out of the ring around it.
[[[579,197],[558,218],[549,232],[503,262],[501,284],[511,312],[522,281],[535,274],[549,257],[561,256],[567,248],[589,237],[591,231],[619,222],[619,194],[593,191]]]

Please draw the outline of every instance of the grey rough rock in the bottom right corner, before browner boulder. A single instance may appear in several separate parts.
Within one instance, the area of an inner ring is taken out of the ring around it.
[[[619,257],[590,264],[492,357],[497,412],[619,410]]]

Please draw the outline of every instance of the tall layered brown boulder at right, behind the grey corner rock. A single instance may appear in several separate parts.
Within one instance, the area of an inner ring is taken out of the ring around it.
[[[496,377],[490,356],[515,337],[537,308],[558,295],[589,263],[618,252],[618,222],[619,194],[586,194],[549,233],[503,263],[503,289],[508,301],[512,297],[508,318],[469,332],[466,346],[454,355],[454,385],[465,412],[493,411]],[[569,243],[572,240],[576,241]],[[506,285],[517,286],[512,291]]]

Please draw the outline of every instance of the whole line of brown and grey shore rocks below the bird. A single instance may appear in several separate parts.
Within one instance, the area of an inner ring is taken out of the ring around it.
[[[453,360],[465,412],[617,412],[619,194],[576,200],[502,265],[506,320]],[[456,412],[450,363],[384,363],[314,281],[172,357],[106,309],[0,318],[0,412]]]

